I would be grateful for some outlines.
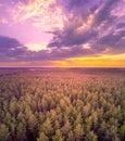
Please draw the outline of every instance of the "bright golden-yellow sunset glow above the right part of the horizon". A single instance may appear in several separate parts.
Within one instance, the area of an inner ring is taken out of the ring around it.
[[[116,55],[79,56],[54,61],[62,67],[125,67],[125,53]]]

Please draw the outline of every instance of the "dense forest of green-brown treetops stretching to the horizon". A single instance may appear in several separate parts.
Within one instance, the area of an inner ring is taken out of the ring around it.
[[[125,68],[0,68],[0,141],[125,141]]]

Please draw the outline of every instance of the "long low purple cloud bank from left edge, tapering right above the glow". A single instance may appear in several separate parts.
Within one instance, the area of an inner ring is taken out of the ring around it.
[[[54,61],[77,55],[90,55],[93,51],[83,49],[82,46],[70,48],[52,48],[38,52],[29,51],[14,38],[0,36],[0,61]]]

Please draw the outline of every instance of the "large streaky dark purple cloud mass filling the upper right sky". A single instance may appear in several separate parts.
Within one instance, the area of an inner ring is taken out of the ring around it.
[[[51,33],[54,37],[48,47],[67,47],[72,50],[74,46],[77,48],[84,43],[90,43],[92,49],[91,53],[100,53],[108,47],[112,49],[112,51],[117,49],[121,50],[121,52],[123,52],[123,50],[125,51],[123,39],[125,36],[125,20],[123,20],[121,14],[113,14],[113,11],[115,13],[115,9],[117,9],[117,7],[121,8],[121,5],[122,8],[125,5],[125,2],[122,0],[68,0],[67,3],[64,3],[63,8],[66,11],[64,27],[61,30],[59,29]],[[87,21],[91,15],[93,21],[90,27],[77,31],[84,24],[88,24]],[[116,31],[116,29],[120,28],[122,30]],[[75,52],[77,52],[76,54],[86,54],[85,50],[80,50],[80,53],[78,48]],[[74,51],[71,52],[71,55],[72,54],[74,54]]]

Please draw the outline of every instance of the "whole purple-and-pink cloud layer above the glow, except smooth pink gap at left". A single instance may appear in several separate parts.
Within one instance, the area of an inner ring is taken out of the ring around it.
[[[0,25],[30,23],[29,28],[53,37],[46,48],[33,51],[1,35],[0,62],[125,53],[124,0],[0,0]]]

